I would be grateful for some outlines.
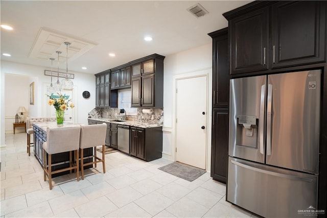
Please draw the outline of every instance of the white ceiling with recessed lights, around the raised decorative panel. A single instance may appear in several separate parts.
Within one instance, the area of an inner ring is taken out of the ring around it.
[[[94,47],[68,60],[68,71],[96,74],[153,53],[168,56],[206,45],[212,41],[207,33],[227,27],[222,13],[249,2],[1,1],[1,24],[14,28],[1,29],[1,53],[12,55],[1,59],[50,68],[50,60],[30,55],[43,28],[92,42]],[[197,3],[209,14],[196,18],[186,10]],[[146,35],[153,40],[145,41]],[[65,61],[59,68],[65,72]]]

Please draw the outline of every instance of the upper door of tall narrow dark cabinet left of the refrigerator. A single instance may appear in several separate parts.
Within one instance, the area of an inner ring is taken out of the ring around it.
[[[228,34],[213,38],[213,107],[228,107]]]

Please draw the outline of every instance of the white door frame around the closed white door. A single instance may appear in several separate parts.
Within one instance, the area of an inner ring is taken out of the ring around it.
[[[211,149],[209,149],[209,146],[211,146],[211,123],[212,123],[212,111],[209,110],[212,106],[212,93],[209,92],[209,90],[212,89],[212,68],[205,68],[197,71],[192,71],[189,73],[183,73],[183,74],[178,74],[173,76],[173,106],[172,106],[172,156],[174,161],[176,161],[176,115],[177,115],[177,107],[176,107],[176,101],[177,101],[177,96],[176,96],[176,86],[177,86],[177,80],[180,79],[189,79],[189,78],[195,78],[195,77],[201,77],[201,76],[206,76],[207,78],[207,84],[206,84],[206,142],[205,142],[205,170],[209,171],[210,170],[210,164],[211,164]],[[210,140],[209,140],[210,139]]]

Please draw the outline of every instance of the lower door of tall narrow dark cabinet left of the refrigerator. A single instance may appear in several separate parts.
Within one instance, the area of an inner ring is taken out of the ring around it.
[[[228,163],[228,109],[213,110],[211,177],[226,183]]]

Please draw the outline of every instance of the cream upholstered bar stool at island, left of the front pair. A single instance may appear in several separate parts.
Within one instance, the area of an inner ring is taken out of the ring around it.
[[[54,173],[71,171],[76,169],[77,181],[79,177],[79,144],[81,127],[55,127],[46,129],[46,142],[43,143],[43,171],[44,181],[46,176],[49,178],[49,187],[52,189],[52,175]],[[69,167],[52,171],[51,156],[61,152],[69,151]],[[75,162],[72,160],[72,151],[75,152]],[[46,154],[48,154],[48,167],[46,163]]]

